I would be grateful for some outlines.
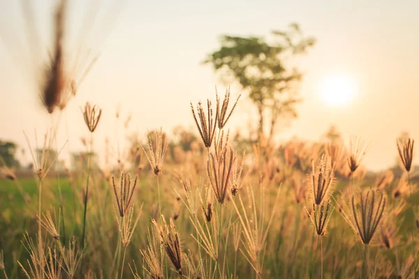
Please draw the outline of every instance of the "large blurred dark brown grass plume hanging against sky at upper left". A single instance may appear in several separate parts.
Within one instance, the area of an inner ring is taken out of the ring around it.
[[[66,0],[59,1],[54,17],[54,46],[50,65],[45,70],[41,84],[41,100],[47,111],[52,114],[54,108],[61,103],[61,95],[66,90],[66,75],[64,74],[64,13]]]

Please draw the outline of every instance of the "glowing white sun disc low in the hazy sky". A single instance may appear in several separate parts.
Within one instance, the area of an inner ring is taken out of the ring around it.
[[[321,84],[321,97],[332,107],[348,105],[356,93],[355,81],[347,75],[331,75]]]

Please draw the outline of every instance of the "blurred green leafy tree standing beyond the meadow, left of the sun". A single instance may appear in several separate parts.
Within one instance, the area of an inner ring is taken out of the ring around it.
[[[280,117],[297,117],[295,105],[300,102],[296,85],[302,79],[297,68],[286,65],[289,59],[304,54],[315,43],[304,37],[293,23],[286,31],[272,31],[273,43],[262,37],[221,36],[219,50],[207,55],[204,63],[212,64],[216,73],[237,81],[258,110],[258,137],[269,130],[274,135]],[[266,127],[266,113],[270,123]]]

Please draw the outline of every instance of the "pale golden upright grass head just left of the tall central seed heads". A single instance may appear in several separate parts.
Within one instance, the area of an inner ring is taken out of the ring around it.
[[[166,142],[166,137],[163,134],[163,130],[156,130],[156,151],[153,149],[152,138],[150,135],[148,148],[149,148],[149,155],[145,151],[144,147],[141,146],[142,151],[144,151],[145,156],[147,156],[147,160],[150,163],[150,166],[153,169],[154,174],[159,175],[161,173],[161,168],[163,167],[164,156],[166,156],[166,151],[168,149],[168,144]]]

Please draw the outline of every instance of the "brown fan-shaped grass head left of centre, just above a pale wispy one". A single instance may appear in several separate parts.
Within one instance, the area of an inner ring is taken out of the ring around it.
[[[115,184],[114,176],[112,176],[112,188],[114,190],[115,199],[117,200],[119,216],[121,217],[124,217],[130,208],[135,186],[137,186],[137,179],[138,176],[135,176],[134,183],[131,185],[131,174],[122,172],[118,196],[117,185]]]

